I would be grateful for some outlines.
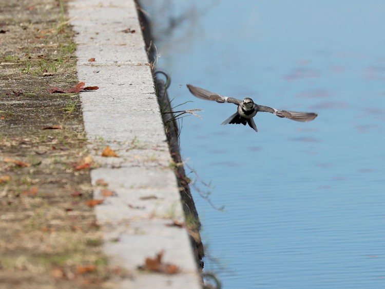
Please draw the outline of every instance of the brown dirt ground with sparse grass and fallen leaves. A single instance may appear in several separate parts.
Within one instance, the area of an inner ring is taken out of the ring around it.
[[[61,4],[0,0],[0,289],[128,275],[102,254],[89,168],[76,168],[88,155],[79,95],[49,93],[78,83]]]

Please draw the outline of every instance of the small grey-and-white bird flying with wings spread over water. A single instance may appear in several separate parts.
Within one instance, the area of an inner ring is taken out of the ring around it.
[[[220,94],[206,91],[206,89],[196,87],[191,84],[187,84],[187,88],[189,89],[190,93],[198,98],[213,100],[219,103],[228,102],[238,105],[237,112],[226,118],[221,124],[248,124],[249,127],[251,127],[256,132],[258,132],[258,129],[253,117],[255,117],[258,112],[272,113],[281,118],[288,118],[301,122],[311,121],[318,116],[316,113],[292,112],[273,109],[273,107],[259,105],[249,97],[240,100],[234,97],[222,96]]]

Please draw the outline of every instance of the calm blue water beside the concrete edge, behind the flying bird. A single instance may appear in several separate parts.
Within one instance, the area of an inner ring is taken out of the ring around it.
[[[385,288],[385,2],[142,2],[173,103],[204,110],[181,150],[225,207],[194,194],[205,270],[223,288]],[[319,116],[219,125],[236,106],[186,83]]]

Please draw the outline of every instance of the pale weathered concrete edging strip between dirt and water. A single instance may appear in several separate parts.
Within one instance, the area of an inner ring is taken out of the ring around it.
[[[134,1],[75,0],[69,6],[79,79],[100,87],[81,95],[89,149],[100,164],[92,182],[102,178],[117,193],[95,210],[111,262],[133,274],[117,287],[200,288],[187,230],[167,226],[185,219]],[[135,32],[123,32],[127,28]],[[119,157],[101,157],[107,145]],[[164,262],[181,273],[137,270],[161,250]]]

